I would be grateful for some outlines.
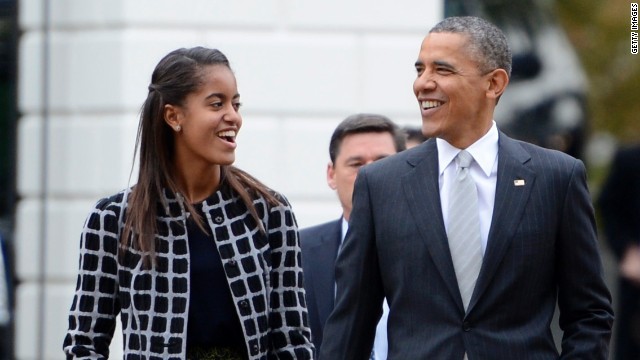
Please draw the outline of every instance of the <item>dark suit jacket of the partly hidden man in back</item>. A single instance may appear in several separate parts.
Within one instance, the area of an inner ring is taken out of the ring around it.
[[[342,218],[300,230],[304,288],[311,339],[316,351],[335,301],[335,262],[342,240]]]

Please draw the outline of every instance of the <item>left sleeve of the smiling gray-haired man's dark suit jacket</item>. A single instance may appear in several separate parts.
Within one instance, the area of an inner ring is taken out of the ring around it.
[[[384,290],[375,245],[367,167],[356,177],[349,230],[336,260],[337,297],[318,359],[368,359],[382,315]]]

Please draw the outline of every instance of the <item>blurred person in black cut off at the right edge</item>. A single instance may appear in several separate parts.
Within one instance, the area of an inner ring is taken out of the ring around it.
[[[640,359],[640,145],[616,153],[598,205],[620,264],[615,358]]]

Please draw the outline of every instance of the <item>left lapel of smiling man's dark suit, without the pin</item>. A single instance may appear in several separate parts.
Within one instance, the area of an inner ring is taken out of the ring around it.
[[[413,169],[402,177],[409,212],[418,225],[431,260],[447,289],[462,307],[449,243],[442,219],[440,186],[438,185],[438,151],[435,139],[428,140],[407,159]]]

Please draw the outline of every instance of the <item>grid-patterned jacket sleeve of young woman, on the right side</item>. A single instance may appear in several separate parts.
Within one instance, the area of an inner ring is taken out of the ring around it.
[[[269,358],[313,359],[298,225],[287,200],[281,197],[281,201],[271,207],[267,228],[273,287],[269,301],[273,349]]]

